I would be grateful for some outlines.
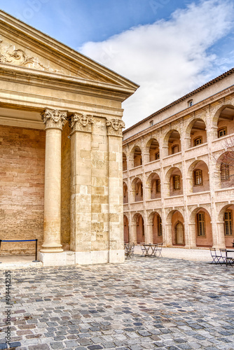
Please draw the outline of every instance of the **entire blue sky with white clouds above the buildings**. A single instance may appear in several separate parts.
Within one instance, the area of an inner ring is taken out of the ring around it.
[[[140,85],[130,127],[234,64],[233,0],[0,0],[0,8]]]

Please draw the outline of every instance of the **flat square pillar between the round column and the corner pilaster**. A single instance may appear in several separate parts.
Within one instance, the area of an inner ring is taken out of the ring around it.
[[[76,264],[91,263],[91,115],[71,116],[71,251]]]

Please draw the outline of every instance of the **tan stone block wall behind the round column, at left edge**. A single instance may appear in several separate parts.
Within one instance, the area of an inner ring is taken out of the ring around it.
[[[45,132],[0,126],[0,239],[43,241]],[[34,242],[2,243],[1,255],[35,252]]]

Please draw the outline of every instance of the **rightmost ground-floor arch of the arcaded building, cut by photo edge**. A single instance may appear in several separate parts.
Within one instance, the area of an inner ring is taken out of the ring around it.
[[[218,230],[221,240],[224,240],[226,248],[233,248],[233,215],[234,205],[228,204],[219,212]],[[224,239],[222,239],[224,237]]]

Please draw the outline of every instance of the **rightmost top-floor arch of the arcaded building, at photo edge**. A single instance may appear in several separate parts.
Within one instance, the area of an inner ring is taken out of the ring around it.
[[[228,106],[222,109],[219,114],[218,123],[217,123],[217,135],[219,139],[234,132],[234,108]]]

